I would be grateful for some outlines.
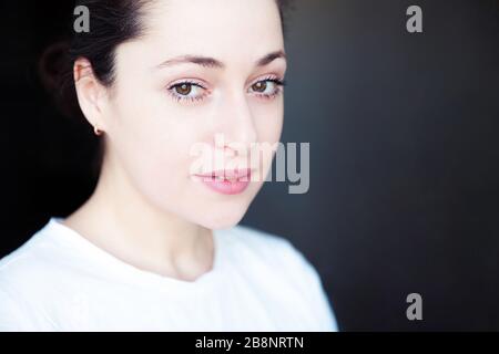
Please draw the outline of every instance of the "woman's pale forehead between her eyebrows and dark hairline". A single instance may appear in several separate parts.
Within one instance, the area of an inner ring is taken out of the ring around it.
[[[284,49],[275,0],[155,0],[144,14],[140,42],[163,59],[196,53],[253,62]]]

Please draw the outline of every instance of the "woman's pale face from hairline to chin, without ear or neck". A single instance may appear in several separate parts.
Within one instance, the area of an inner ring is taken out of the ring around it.
[[[283,92],[274,81],[284,80],[286,61],[261,62],[284,53],[278,8],[274,0],[164,0],[146,10],[145,37],[116,49],[106,153],[160,210],[210,229],[230,227],[271,168],[274,150],[264,149],[258,162],[257,144],[281,137]],[[184,62],[185,55],[210,60]],[[195,146],[207,150],[195,155]],[[253,180],[222,194],[194,176],[221,167],[252,168]]]

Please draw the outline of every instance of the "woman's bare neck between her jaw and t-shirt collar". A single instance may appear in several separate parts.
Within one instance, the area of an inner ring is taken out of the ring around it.
[[[152,205],[110,158],[92,196],[64,223],[143,270],[193,280],[212,268],[212,231]]]

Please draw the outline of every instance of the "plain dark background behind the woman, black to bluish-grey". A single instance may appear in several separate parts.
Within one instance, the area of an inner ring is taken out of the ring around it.
[[[71,14],[0,3],[0,256],[94,187],[90,126],[37,75]],[[498,330],[499,1],[296,1],[288,28],[282,140],[310,143],[310,189],[266,184],[243,223],[306,254],[343,331]]]

